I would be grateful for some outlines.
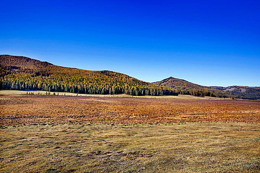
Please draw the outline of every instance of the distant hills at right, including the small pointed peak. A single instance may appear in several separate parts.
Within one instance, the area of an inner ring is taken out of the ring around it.
[[[191,94],[195,96],[260,99],[260,87],[206,87],[173,77],[154,82],[153,84],[178,89],[181,94]]]

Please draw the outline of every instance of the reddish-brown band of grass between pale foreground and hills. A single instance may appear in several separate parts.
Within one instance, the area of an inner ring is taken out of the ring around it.
[[[91,96],[0,97],[0,125],[46,123],[260,123],[260,102]]]

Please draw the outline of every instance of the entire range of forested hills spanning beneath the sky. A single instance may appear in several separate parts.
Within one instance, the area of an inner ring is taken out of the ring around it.
[[[0,55],[0,77],[0,89],[39,89],[92,94],[190,94],[260,99],[260,87],[207,87],[174,77],[148,83],[113,71],[62,67],[25,56]]]

